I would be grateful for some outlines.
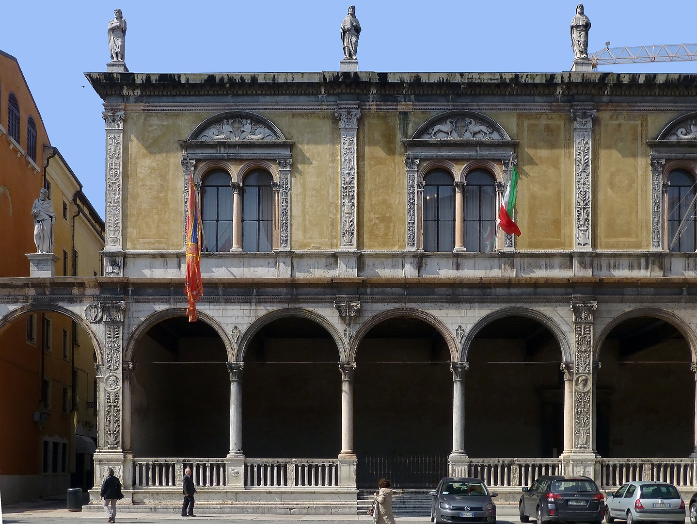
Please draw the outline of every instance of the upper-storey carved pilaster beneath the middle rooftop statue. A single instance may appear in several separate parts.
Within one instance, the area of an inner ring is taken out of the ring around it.
[[[356,141],[358,135],[358,105],[339,107],[341,140],[341,222],[339,226],[339,248],[356,249],[355,208],[356,208]]]

